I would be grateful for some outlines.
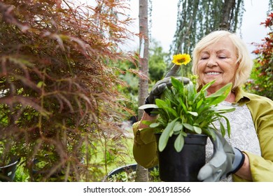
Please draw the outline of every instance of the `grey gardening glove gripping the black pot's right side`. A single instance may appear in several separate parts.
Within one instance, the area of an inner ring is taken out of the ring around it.
[[[216,139],[211,139],[214,144],[214,155],[204,165],[197,178],[204,182],[216,182],[224,179],[229,174],[237,172],[244,164],[244,154],[237,148],[228,144],[221,134],[216,133]]]

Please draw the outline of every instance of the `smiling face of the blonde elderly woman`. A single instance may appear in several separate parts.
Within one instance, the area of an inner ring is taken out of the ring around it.
[[[221,38],[200,52],[197,62],[199,79],[202,85],[216,80],[208,90],[216,92],[228,83],[232,83],[238,68],[236,48],[230,38]]]

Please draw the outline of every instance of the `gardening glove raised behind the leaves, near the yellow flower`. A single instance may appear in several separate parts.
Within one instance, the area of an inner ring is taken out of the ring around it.
[[[153,86],[150,94],[148,97],[146,97],[145,104],[155,104],[155,99],[160,99],[160,96],[162,92],[166,89],[166,87],[171,87],[172,86],[172,76],[176,76],[176,72],[179,71],[180,66],[174,64],[172,66],[172,69],[166,74],[165,78],[162,80],[159,80],[155,85]],[[183,81],[184,84],[188,84],[190,82],[190,79],[188,78],[183,78],[181,76],[176,76],[176,79]],[[149,116],[156,116],[156,113],[152,113],[156,109],[144,109],[146,113],[148,113]]]

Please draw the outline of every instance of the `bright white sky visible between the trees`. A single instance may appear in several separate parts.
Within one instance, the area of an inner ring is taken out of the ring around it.
[[[163,1],[164,2],[164,1]],[[151,37],[155,38],[160,43],[163,50],[169,50],[169,45],[172,44],[174,33],[176,30],[176,15],[178,0],[168,0],[168,3],[163,3],[160,0],[152,0],[152,27]],[[269,0],[244,0],[244,18],[241,26],[241,38],[248,45],[248,50],[251,53],[255,50],[252,42],[262,43],[262,38],[267,35],[267,29],[260,25],[267,18]],[[132,18],[136,18],[135,24],[132,26],[134,32],[139,32],[139,0],[130,1]],[[130,48],[136,50],[139,45],[139,40],[136,39],[130,43]],[[131,49],[130,49],[131,50]],[[251,55],[253,58],[254,55]]]

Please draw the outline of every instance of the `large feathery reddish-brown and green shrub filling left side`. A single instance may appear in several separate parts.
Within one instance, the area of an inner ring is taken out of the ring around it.
[[[98,3],[0,2],[0,156],[22,159],[21,179],[101,181],[128,155],[123,82],[109,63],[133,58],[117,46],[131,19],[123,1]]]

